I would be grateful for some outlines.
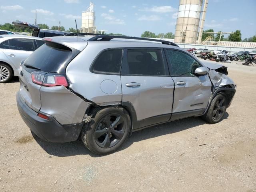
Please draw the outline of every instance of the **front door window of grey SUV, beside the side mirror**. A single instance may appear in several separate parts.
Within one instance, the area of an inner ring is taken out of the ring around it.
[[[167,59],[171,64],[172,76],[194,76],[196,68],[201,65],[190,57],[188,54],[181,51],[166,50]]]

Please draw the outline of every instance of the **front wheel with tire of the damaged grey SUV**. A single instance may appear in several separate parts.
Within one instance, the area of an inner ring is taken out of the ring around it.
[[[227,108],[227,98],[224,93],[217,94],[208,108],[207,112],[202,116],[202,118],[210,123],[218,123],[222,120]]]

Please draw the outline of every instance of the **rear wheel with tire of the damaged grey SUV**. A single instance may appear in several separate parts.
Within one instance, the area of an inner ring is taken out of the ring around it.
[[[124,143],[130,128],[130,116],[124,108],[98,108],[88,116],[81,139],[92,153],[110,154]]]

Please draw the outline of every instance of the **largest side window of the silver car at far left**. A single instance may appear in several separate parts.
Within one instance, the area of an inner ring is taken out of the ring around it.
[[[21,51],[34,51],[34,43],[32,39],[10,39],[10,49]]]

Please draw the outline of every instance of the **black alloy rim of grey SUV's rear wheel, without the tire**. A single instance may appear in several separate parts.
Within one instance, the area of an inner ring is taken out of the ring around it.
[[[118,144],[124,136],[124,123],[124,118],[117,113],[103,117],[94,131],[94,139],[98,146],[110,148]]]

